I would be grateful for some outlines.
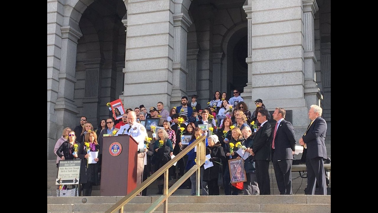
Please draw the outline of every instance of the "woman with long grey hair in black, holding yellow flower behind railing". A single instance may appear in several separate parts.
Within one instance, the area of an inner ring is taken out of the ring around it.
[[[161,143],[162,142],[162,143]],[[173,152],[172,141],[169,139],[168,133],[162,129],[158,130],[158,139],[156,139],[153,149],[156,152],[156,164],[155,171],[160,169],[164,164],[168,163],[170,158],[170,153]],[[164,187],[164,176],[160,175],[158,177],[158,193],[163,194]]]

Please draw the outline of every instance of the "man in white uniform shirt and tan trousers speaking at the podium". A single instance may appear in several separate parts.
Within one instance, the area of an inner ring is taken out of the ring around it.
[[[146,155],[146,152],[144,152],[144,140],[147,136],[147,132],[142,124],[136,122],[136,114],[134,111],[130,111],[129,114],[127,114],[127,124],[119,129],[116,136],[123,134],[133,136],[136,143],[138,143],[138,150],[136,150],[138,152],[136,185],[138,186],[142,183],[144,156]]]

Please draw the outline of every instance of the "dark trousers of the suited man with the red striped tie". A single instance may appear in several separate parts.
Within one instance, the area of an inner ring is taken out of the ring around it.
[[[274,174],[276,174],[277,186],[280,194],[293,194],[291,184],[291,165],[293,160],[273,161]]]

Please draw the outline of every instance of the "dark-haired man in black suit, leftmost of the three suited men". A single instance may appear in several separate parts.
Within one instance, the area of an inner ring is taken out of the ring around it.
[[[256,164],[256,177],[260,189],[260,195],[270,194],[269,161],[270,141],[272,140],[272,127],[268,120],[268,110],[260,110],[257,113],[257,121],[260,128],[254,138],[250,153],[254,156]]]

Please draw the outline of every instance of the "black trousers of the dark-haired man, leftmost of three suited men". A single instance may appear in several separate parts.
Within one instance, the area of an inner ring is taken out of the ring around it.
[[[256,177],[259,184],[260,195],[270,194],[269,161],[256,160]]]

